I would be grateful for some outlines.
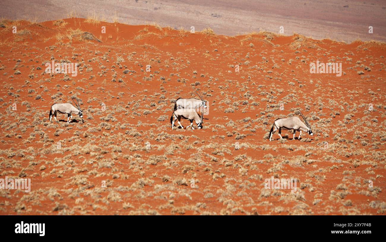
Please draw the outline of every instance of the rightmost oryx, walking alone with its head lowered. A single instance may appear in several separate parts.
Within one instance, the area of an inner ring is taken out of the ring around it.
[[[291,118],[278,118],[273,122],[271,131],[269,132],[269,141],[271,141],[272,134],[275,133],[276,130],[279,129],[279,136],[281,138],[281,129],[289,130],[293,129],[293,139],[295,139],[295,133],[296,131],[300,131],[299,138],[301,135],[301,131],[307,132],[308,134],[311,134],[313,136],[310,124],[308,124],[307,120],[304,118],[303,114],[300,112],[300,115],[303,117],[306,124],[304,124],[300,118],[298,117],[291,117]]]

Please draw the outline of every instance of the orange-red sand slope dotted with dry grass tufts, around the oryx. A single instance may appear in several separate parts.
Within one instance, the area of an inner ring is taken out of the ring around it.
[[[3,24],[0,178],[30,178],[32,190],[0,190],[0,214],[385,213],[384,44]],[[44,73],[51,60],[80,64],[78,76]],[[310,74],[317,60],[341,62],[342,76]],[[195,90],[210,104],[204,129],[171,130],[174,100]],[[73,96],[85,123],[50,123],[50,106]],[[268,141],[296,109],[314,136]],[[271,176],[298,189],[267,190]]]

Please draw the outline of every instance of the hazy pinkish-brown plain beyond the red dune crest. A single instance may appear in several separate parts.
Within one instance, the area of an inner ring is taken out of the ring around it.
[[[384,0],[12,0],[2,1],[0,16],[39,22],[67,18],[68,13],[86,18],[99,15],[113,22],[141,25],[156,22],[196,31],[210,27],[217,34],[236,35],[253,31],[298,33],[313,39],[345,42],[386,41]],[[369,34],[369,26],[373,33]]]

